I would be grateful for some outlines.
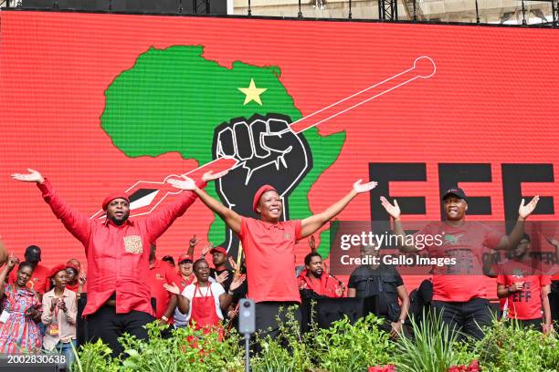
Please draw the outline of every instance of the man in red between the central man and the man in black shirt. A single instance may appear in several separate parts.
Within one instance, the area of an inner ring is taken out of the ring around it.
[[[301,297],[343,297],[345,286],[332,275],[324,273],[319,253],[311,252],[305,256],[305,269],[298,276]]]

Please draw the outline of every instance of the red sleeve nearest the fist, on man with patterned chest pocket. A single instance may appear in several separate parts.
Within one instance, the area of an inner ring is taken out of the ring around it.
[[[205,188],[206,182],[197,181],[196,186]],[[185,214],[195,200],[196,194],[193,191],[183,191],[178,201],[167,205],[162,211],[150,215],[145,220],[150,242],[156,241],[173,224],[174,220]]]

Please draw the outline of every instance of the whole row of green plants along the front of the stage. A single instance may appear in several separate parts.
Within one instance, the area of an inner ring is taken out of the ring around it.
[[[556,336],[543,336],[506,323],[494,322],[480,341],[457,342],[436,315],[413,324],[414,337],[396,341],[381,329],[374,315],[350,324],[347,318],[330,329],[313,327],[301,335],[293,315],[280,326],[281,337],[258,339],[261,352],[250,360],[253,372],[353,372],[367,367],[396,364],[398,372],[447,372],[448,367],[469,365],[477,359],[489,372],[556,372],[559,347]],[[163,337],[165,326],[147,325],[150,339],[120,339],[125,356],[111,359],[111,349],[100,341],[81,346],[74,365],[79,372],[178,372],[244,370],[244,343],[233,332],[223,341],[216,334],[202,335],[190,327]],[[190,340],[195,339],[196,342]]]

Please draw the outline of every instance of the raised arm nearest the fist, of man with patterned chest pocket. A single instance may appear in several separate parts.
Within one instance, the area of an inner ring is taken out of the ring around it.
[[[195,202],[196,194],[192,192],[195,188],[206,187],[207,182],[214,181],[226,174],[227,171],[221,171],[215,174],[212,171],[208,171],[202,176],[201,181],[195,182],[191,179],[183,181],[185,182],[185,188],[180,189],[188,192],[181,195],[178,201],[166,206],[161,212],[152,214],[145,220],[152,242],[157,240],[157,238],[173,224],[174,220],[185,214],[186,210]],[[169,183],[173,184],[171,181],[169,181]]]

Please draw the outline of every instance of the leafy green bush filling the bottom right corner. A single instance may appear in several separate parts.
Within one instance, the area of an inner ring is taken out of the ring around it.
[[[497,322],[476,345],[480,364],[490,372],[556,372],[559,342],[556,335],[522,329],[515,321]]]

